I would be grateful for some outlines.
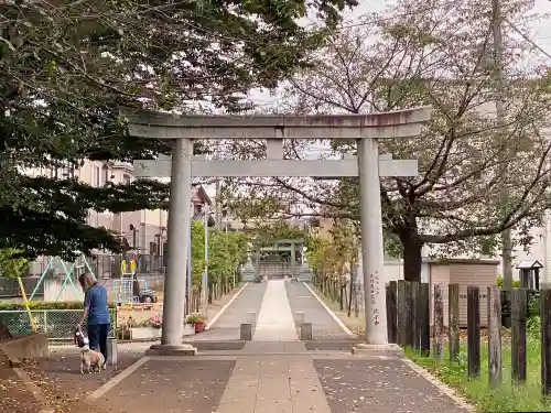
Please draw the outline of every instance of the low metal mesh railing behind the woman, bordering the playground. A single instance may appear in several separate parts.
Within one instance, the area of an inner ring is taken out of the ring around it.
[[[109,308],[111,330],[109,337],[115,337],[117,327],[117,313]],[[75,327],[83,315],[82,309],[31,309],[36,329],[45,332],[51,340],[72,340]],[[24,309],[0,311],[0,322],[8,328],[12,336],[31,334],[29,314]]]

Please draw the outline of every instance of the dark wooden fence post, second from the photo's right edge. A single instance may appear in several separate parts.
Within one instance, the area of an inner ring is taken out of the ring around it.
[[[511,294],[511,367],[512,379],[526,381],[526,290]]]

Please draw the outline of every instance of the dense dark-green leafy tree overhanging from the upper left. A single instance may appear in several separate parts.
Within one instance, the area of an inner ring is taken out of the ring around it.
[[[252,87],[274,87],[304,66],[324,29],[356,0],[9,1],[0,17],[0,247],[26,256],[120,249],[90,208],[163,207],[155,183],[93,188],[73,171],[85,160],[170,153],[128,135],[120,106],[197,111],[250,107]],[[203,106],[202,106],[203,105]],[[24,169],[63,169],[62,180]]]

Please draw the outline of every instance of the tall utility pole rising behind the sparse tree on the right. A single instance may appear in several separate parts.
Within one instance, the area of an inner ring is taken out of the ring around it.
[[[499,126],[500,144],[504,144],[504,134],[501,124],[505,123],[505,102],[504,102],[504,39],[501,33],[503,15],[501,0],[491,0],[491,30],[494,34],[494,81],[496,95],[496,121]],[[507,156],[506,149],[503,150],[504,157]],[[507,160],[504,159],[501,166],[503,178],[507,180]],[[501,203],[507,203],[508,188],[506,183],[501,185]],[[512,287],[512,240],[511,230],[506,229],[501,232],[501,268],[504,278],[504,289]]]

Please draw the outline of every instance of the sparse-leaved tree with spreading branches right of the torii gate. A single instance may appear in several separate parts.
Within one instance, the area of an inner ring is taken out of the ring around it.
[[[424,244],[436,253],[478,252],[482,240],[490,246],[507,228],[528,242],[528,229],[550,205],[549,72],[538,62],[523,64],[533,45],[512,26],[522,24],[530,6],[525,0],[501,6],[508,22],[503,122],[495,115],[491,4],[482,0],[436,0],[429,7],[399,1],[381,15],[336,31],[315,53],[315,64],[290,81],[289,107],[299,113],[434,108],[419,138],[380,142],[381,152],[418,159],[420,165],[417,177],[381,178],[383,225],[401,243],[407,280],[420,279]],[[295,157],[304,152],[299,144],[290,149]],[[334,141],[332,148],[356,151],[349,141]],[[323,205],[324,214],[359,218],[357,180],[252,184],[269,194],[289,192],[318,213]]]

